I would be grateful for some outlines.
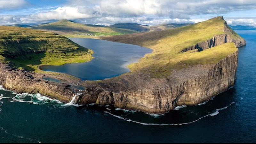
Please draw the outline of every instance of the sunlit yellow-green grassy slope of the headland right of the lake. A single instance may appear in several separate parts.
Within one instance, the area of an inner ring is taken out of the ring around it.
[[[224,32],[224,29],[229,32]],[[215,35],[228,33],[235,39],[242,39],[231,30],[223,17],[216,17],[194,25],[163,31],[137,33],[123,36],[104,37],[105,40],[137,44],[154,51],[141,58],[138,63],[129,65],[131,71],[142,70],[153,76],[170,75],[174,69],[191,65],[216,63],[237,50],[235,44],[222,44],[202,52],[181,52],[184,48],[211,39]]]

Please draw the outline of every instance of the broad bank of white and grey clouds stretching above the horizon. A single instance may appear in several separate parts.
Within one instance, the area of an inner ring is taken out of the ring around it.
[[[204,19],[195,19],[202,15],[209,17],[209,15],[217,16],[256,9],[255,0],[69,0],[65,5],[54,9],[43,9],[41,12],[29,15],[1,15],[0,23],[39,23],[61,19],[107,25],[192,23],[203,21]],[[228,23],[256,25],[255,19],[247,18],[228,19]]]

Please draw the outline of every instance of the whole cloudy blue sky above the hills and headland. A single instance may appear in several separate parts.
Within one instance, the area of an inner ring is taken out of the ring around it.
[[[256,27],[256,0],[0,0],[0,25],[73,20],[86,24],[196,23],[223,16]]]

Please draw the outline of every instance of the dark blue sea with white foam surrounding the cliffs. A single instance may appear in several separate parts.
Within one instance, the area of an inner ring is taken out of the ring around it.
[[[0,142],[256,142],[256,31],[237,32],[236,83],[208,102],[151,116],[0,90]]]

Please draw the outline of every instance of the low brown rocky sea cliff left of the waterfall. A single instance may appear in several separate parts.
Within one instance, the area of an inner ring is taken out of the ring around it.
[[[59,84],[37,78],[37,74],[12,68],[11,65],[0,63],[0,85],[8,90],[17,93],[40,93],[69,102],[73,95],[72,89],[68,84]]]

